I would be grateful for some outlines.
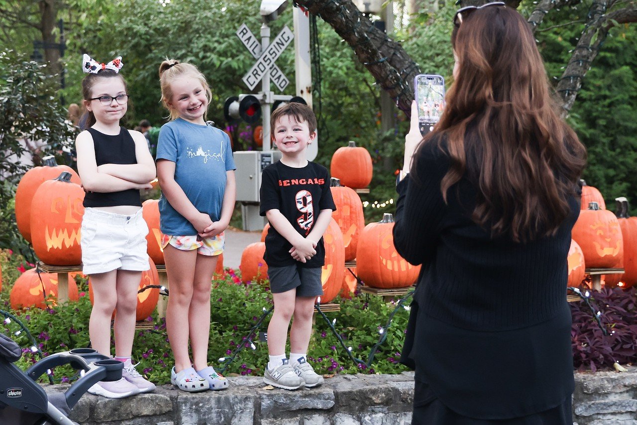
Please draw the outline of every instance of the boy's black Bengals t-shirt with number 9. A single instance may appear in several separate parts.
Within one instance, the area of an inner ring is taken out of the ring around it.
[[[329,190],[327,168],[313,162],[308,162],[303,168],[288,167],[281,161],[269,165],[263,170],[260,193],[260,214],[265,216],[268,210],[278,209],[303,237],[310,234],[321,210],[336,211],[332,192]],[[294,260],[289,253],[290,248],[292,244],[271,226],[266,235],[264,255],[269,267],[298,264],[300,267],[311,268],[325,264],[322,237],[318,241],[316,255],[306,263]]]

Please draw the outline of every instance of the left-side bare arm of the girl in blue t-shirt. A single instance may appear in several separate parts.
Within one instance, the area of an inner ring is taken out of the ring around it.
[[[212,220],[206,213],[199,213],[190,199],[183,192],[182,186],[175,181],[175,166],[173,161],[157,160],[157,179],[159,187],[169,204],[182,216],[190,221],[190,224],[198,233],[210,227]],[[225,196],[224,196],[225,206]],[[232,214],[232,213],[231,213]]]

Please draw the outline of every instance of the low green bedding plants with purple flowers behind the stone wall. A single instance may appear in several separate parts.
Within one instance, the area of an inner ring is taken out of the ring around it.
[[[10,311],[8,296],[10,288],[19,276],[24,265],[24,258],[10,255],[8,251],[0,250],[0,265],[3,265],[4,287],[0,292],[0,307]],[[27,265],[28,267],[28,265]],[[69,302],[64,306],[50,305],[48,309],[27,309],[16,312],[20,320],[36,339],[36,344],[45,354],[53,354],[69,350],[70,348],[89,346],[89,317],[91,304],[88,296],[86,280],[76,278],[80,290],[80,300]],[[208,360],[217,368],[220,357],[229,357],[233,350],[241,344],[247,345],[240,354],[229,364],[226,374],[262,376],[263,368],[268,361],[268,347],[258,338],[252,339],[255,350],[245,341],[248,332],[257,320],[264,314],[264,309],[271,308],[271,294],[267,283],[241,283],[239,276],[229,270],[224,279],[213,281],[211,293],[211,326]],[[378,341],[378,329],[386,325],[389,315],[396,307],[392,303],[385,303],[382,297],[365,297],[359,295],[352,300],[341,299],[341,311],[326,313],[330,320],[336,318],[335,328],[341,332],[345,343],[352,347],[352,354],[362,361],[367,361],[369,350]],[[387,330],[387,340],[376,352],[371,368],[357,366],[340,346],[329,324],[316,315],[315,330],[310,341],[310,362],[318,373],[399,373],[405,370],[397,364],[397,359],[404,341],[404,329],[408,313],[399,308],[392,325]],[[174,364],[166,334],[166,323],[157,318],[154,313],[150,318],[154,323],[153,329],[143,329],[136,332],[133,345],[135,361],[140,362],[138,369],[158,384],[166,384],[170,380],[170,369]],[[262,322],[260,331],[267,331],[269,317]],[[4,332],[11,334],[17,330],[17,325],[4,325]],[[25,369],[39,359],[31,354],[28,348],[31,341],[25,332],[12,338],[24,348],[24,355],[18,361],[18,367]],[[289,348],[288,348],[289,351]],[[66,382],[75,372],[68,368],[54,371],[55,378]]]

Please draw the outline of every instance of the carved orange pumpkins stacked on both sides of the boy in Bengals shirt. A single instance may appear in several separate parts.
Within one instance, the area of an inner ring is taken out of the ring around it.
[[[324,234],[325,265],[322,268],[324,295],[322,303],[333,301],[337,295],[351,297],[358,277],[373,288],[410,287],[417,280],[420,267],[400,257],[394,248],[391,214],[378,223],[365,226],[362,202],[355,189],[366,188],[371,182],[371,156],[363,147],[349,142],[334,153],[330,167],[330,189],[336,211]],[[263,259],[266,225],[261,242],[250,244],[241,256],[241,278],[244,282],[267,278]],[[345,268],[345,262],[356,260],[356,267]]]

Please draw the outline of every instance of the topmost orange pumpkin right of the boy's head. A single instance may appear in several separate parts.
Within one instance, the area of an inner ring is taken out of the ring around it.
[[[371,182],[371,156],[367,149],[350,142],[349,145],[336,149],[329,172],[332,177],[340,179],[343,186],[354,189],[366,188]]]

